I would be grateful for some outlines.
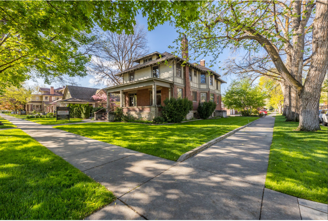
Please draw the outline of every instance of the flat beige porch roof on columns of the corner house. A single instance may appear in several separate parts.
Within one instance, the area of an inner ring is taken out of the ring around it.
[[[173,81],[152,77],[144,80],[133,81],[125,84],[115,85],[112,87],[104,88],[107,93],[120,93],[121,90],[136,89],[154,85],[171,88]]]

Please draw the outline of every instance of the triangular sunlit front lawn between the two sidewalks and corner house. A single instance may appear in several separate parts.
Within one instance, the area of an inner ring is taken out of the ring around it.
[[[85,123],[55,128],[176,161],[185,152],[256,119],[228,117],[171,125]]]

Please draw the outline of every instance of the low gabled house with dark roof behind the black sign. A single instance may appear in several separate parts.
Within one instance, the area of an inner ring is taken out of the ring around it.
[[[56,101],[56,105],[67,107],[68,104],[87,104],[92,107],[106,106],[106,101],[97,101],[92,98],[96,94],[106,94],[103,89],[85,88],[66,85],[63,98]]]

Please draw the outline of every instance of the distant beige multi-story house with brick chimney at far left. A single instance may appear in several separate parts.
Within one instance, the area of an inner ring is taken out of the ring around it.
[[[33,110],[37,112],[51,112],[52,103],[63,97],[63,88],[39,88],[38,94],[32,94],[31,98],[27,100],[26,111],[31,113]]]

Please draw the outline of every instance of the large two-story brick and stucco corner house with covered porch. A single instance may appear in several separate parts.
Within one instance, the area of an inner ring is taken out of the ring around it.
[[[186,36],[183,36],[182,44],[188,45]],[[182,57],[187,58],[188,48],[185,51]],[[205,67],[205,60],[200,64],[187,62],[185,67],[183,61],[185,59],[168,52],[153,52],[135,59],[137,65],[117,74],[122,77],[122,84],[104,90],[107,97],[111,93],[120,94],[124,112],[149,120],[161,115],[159,105],[164,105],[163,101],[171,97],[187,97],[193,101],[194,108],[187,119],[196,117],[199,101],[214,101],[216,110],[222,111],[221,84],[226,82],[218,73]]]

